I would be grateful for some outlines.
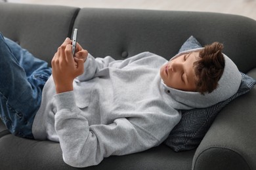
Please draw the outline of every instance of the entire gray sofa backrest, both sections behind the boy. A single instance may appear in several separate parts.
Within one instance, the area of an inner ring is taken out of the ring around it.
[[[224,44],[224,53],[240,71],[256,68],[256,21],[213,12],[0,5],[0,31],[38,58],[51,63],[56,49],[72,30],[95,57],[125,59],[150,51],[164,58],[177,54],[193,35],[203,45]]]

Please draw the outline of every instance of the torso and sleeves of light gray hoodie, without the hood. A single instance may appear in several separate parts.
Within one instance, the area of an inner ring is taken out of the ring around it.
[[[198,106],[188,101],[197,99],[198,93],[165,86],[159,73],[165,63],[150,52],[125,60],[95,59],[89,54],[74,90],[58,94],[51,76],[33,122],[35,139],[59,142],[64,161],[74,167],[158,146],[181,120],[178,110]],[[200,106],[215,102],[219,99],[203,100]]]

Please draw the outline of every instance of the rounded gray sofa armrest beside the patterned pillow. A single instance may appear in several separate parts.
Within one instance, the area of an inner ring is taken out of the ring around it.
[[[256,78],[256,69],[251,71]],[[192,169],[256,169],[256,87],[228,104],[198,146]]]

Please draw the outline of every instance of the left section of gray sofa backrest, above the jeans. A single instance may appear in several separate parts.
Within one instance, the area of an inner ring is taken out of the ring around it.
[[[0,32],[51,64],[58,46],[70,37],[78,11],[74,7],[0,3]]]

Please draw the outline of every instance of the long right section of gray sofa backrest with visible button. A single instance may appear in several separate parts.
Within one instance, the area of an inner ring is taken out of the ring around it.
[[[219,41],[240,71],[256,67],[256,21],[212,12],[81,9],[75,20],[79,42],[95,57],[124,59],[150,51],[170,59],[193,35],[200,43]],[[255,54],[253,56],[253,54]]]

